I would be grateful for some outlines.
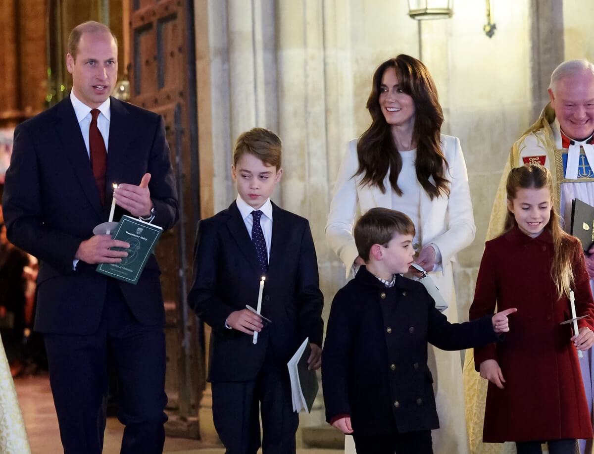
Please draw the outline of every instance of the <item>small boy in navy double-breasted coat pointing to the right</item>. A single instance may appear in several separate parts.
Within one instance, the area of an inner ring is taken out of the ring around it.
[[[405,214],[374,208],[353,236],[365,261],[332,303],[323,351],[328,423],[352,434],[358,454],[432,453],[439,427],[427,343],[460,350],[497,342],[509,330],[502,311],[451,324],[409,271],[415,225]]]

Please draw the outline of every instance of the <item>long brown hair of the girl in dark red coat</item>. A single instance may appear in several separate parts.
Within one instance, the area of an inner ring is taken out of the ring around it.
[[[552,198],[553,184],[551,172],[539,164],[527,164],[522,167],[511,169],[507,176],[507,200],[513,201],[516,198],[517,190],[522,189],[542,189],[548,188],[551,191],[551,218],[545,226],[553,238],[554,255],[551,266],[551,276],[559,298],[563,295],[569,297],[571,286],[574,285],[573,276],[573,248],[569,247],[571,236],[566,234],[561,228],[561,219],[555,210],[555,204]],[[507,210],[505,216],[505,225],[503,232],[510,231],[516,225],[516,218],[510,210]]]

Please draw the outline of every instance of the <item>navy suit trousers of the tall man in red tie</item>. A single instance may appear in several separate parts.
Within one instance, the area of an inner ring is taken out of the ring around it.
[[[108,364],[118,376],[118,419],[125,425],[121,453],[163,452],[167,420],[163,326],[138,323],[110,279],[97,332],[44,337],[65,454],[102,452]]]

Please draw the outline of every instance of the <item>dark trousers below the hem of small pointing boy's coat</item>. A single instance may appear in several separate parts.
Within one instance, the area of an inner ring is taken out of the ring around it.
[[[386,436],[353,434],[353,439],[357,454],[433,454],[430,430]]]

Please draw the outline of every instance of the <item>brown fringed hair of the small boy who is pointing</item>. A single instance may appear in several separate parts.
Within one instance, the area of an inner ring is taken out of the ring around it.
[[[394,234],[415,236],[415,224],[405,213],[388,208],[372,208],[355,224],[353,237],[359,257],[369,261],[372,245],[387,245]]]

